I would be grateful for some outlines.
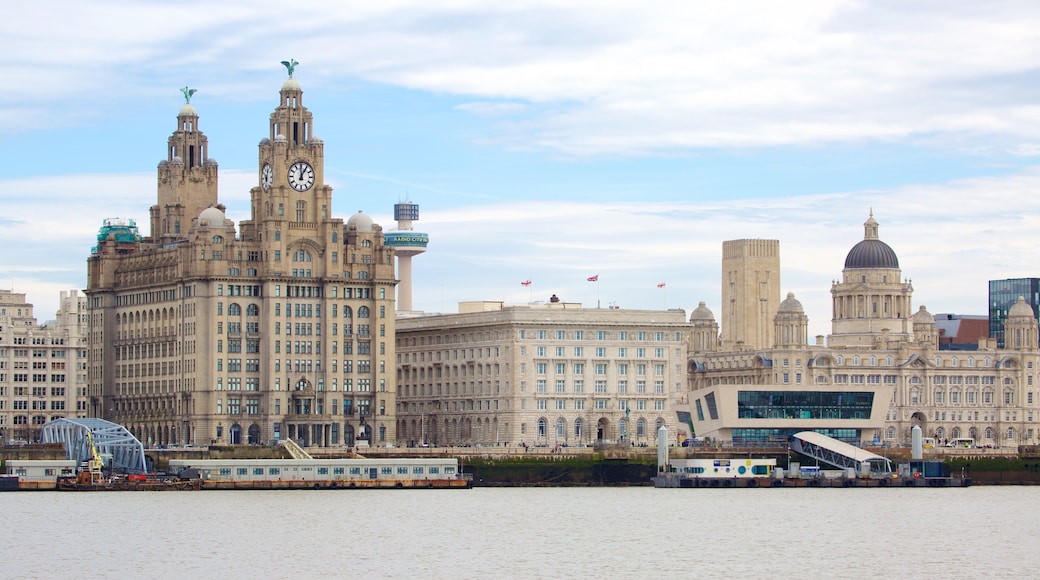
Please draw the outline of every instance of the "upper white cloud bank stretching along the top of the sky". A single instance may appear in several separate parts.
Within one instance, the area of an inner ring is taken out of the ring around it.
[[[360,78],[476,97],[460,108],[511,113],[485,142],[569,155],[936,133],[1014,151],[1040,132],[1040,5],[1014,1],[985,9],[852,0],[297,2],[290,16],[272,0],[102,0],[23,2],[6,17],[0,50],[19,58],[0,62],[0,74],[18,82],[0,109],[29,109],[9,120],[53,123],[46,113],[58,107],[73,121],[185,77],[225,99],[266,96],[251,90],[267,82],[257,71],[293,56],[312,88]],[[8,123],[8,132],[29,127]]]

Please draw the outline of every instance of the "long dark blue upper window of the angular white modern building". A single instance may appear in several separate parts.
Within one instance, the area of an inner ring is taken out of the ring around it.
[[[740,391],[736,405],[740,419],[869,419],[874,393]]]

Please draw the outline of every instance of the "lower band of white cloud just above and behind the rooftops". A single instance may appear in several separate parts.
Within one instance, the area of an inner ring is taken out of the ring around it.
[[[227,172],[222,191],[248,191],[255,179],[252,172]],[[0,194],[0,244],[15,248],[0,261],[0,280],[28,293],[37,317],[47,319],[58,290],[85,286],[85,261],[103,218],[136,217],[148,233],[154,177],[67,176],[32,184],[40,191],[34,203]],[[0,181],[0,191],[25,187],[24,180]],[[414,261],[413,301],[418,309],[453,312],[460,300],[524,302],[554,293],[586,307],[601,301],[687,313],[704,300],[718,316],[722,242],[769,238],[780,240],[782,294],[795,292],[810,317],[810,333],[826,335],[830,284],[862,239],[873,207],[881,238],[913,280],[916,305],[933,313],[985,314],[988,280],[1040,273],[1033,269],[1038,189],[1040,172],[1032,172],[782,200],[515,202],[428,210],[416,225],[431,243]],[[41,201],[48,214],[41,214]],[[220,201],[236,221],[249,216],[246,195],[222,194]],[[376,221],[393,227],[388,216]],[[600,275],[598,285],[586,282],[592,274]],[[521,287],[527,279],[531,287]],[[659,282],[668,286],[657,289]]]

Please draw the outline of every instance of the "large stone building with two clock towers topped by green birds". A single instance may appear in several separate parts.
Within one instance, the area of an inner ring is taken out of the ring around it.
[[[249,219],[225,216],[185,88],[151,235],[106,220],[87,260],[88,411],[146,444],[396,439],[393,251],[364,213],[333,217],[324,143],[286,65]]]

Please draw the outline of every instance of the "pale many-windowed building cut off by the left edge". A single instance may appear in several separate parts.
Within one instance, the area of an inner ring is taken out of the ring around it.
[[[0,445],[36,442],[44,423],[86,417],[86,304],[61,292],[55,320],[37,324],[25,294],[0,290]]]

